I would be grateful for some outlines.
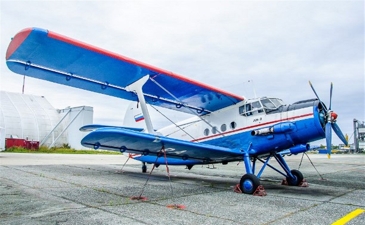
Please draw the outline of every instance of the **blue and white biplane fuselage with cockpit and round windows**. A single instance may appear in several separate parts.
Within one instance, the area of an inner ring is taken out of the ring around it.
[[[249,99],[204,115],[202,119],[192,117],[157,132],[169,138],[240,149],[251,156],[265,156],[324,138],[320,107],[316,99],[290,105],[276,98]],[[156,159],[140,154],[132,155],[132,158],[148,163],[154,163]],[[161,163],[165,162],[161,159]],[[201,164],[172,158],[168,163]]]

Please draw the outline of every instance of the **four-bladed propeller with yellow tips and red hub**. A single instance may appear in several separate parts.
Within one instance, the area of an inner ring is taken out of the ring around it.
[[[326,120],[325,120],[326,125],[324,127],[324,131],[326,133],[327,157],[331,158],[332,129],[335,131],[335,134],[337,135],[337,137],[339,137],[339,139],[341,139],[341,141],[345,145],[348,144],[345,136],[342,134],[341,129],[339,128],[339,126],[336,123],[337,114],[331,110],[333,83],[331,82],[330,107],[328,108],[328,110],[324,107],[324,104],[319,99],[317,92],[314,90],[314,87],[311,82],[309,82],[309,85],[311,86],[314,94],[316,95],[317,99],[319,100],[319,103],[321,104],[321,106],[323,108],[324,113],[326,114]]]

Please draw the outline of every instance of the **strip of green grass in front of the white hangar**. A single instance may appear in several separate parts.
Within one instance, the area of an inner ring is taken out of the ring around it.
[[[24,149],[22,147],[11,147],[3,151],[12,153],[58,153],[58,154],[104,154],[104,155],[118,155],[122,154],[118,151],[103,151],[103,150],[76,150],[72,149],[69,145],[64,144],[62,147],[51,147],[48,149],[46,146],[35,149]]]

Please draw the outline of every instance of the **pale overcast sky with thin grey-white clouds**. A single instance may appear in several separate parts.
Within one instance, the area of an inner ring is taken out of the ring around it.
[[[343,133],[364,114],[364,1],[0,1],[0,89],[21,92],[5,63],[27,27],[49,29],[133,59],[253,98],[315,98]],[[56,108],[94,107],[94,123],[122,125],[128,101],[26,77],[25,94]],[[173,120],[185,115],[166,112]],[[153,114],[155,128],[169,125]],[[320,143],[325,143],[321,141]],[[339,139],[333,134],[333,143]],[[353,143],[351,138],[350,143]]]

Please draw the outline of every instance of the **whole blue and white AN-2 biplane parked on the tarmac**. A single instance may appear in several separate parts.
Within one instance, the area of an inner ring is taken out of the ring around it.
[[[57,33],[26,28],[11,40],[7,66],[15,73],[139,102],[146,129],[89,125],[81,144],[94,149],[131,153],[145,163],[193,165],[233,161],[245,163],[243,193],[260,185],[266,166],[282,174],[289,185],[303,180],[289,169],[283,155],[303,153],[308,142],[326,138],[331,154],[331,130],[347,145],[336,124],[337,115],[319,99],[284,104],[277,98],[245,99],[172,72],[150,66]],[[191,119],[154,130],[147,104],[186,112]],[[283,171],[269,164],[274,158]],[[256,170],[256,162],[263,166]]]

